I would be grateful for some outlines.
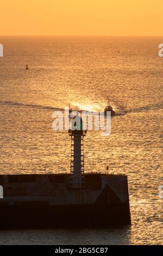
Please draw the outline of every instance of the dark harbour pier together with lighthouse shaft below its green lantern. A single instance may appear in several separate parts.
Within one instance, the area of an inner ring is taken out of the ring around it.
[[[130,223],[126,175],[84,173],[86,131],[71,129],[71,171],[0,175],[0,228],[113,227]],[[1,187],[1,188],[2,188]]]

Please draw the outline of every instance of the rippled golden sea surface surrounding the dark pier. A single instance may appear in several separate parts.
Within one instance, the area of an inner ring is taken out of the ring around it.
[[[110,97],[111,135],[87,132],[85,171],[108,165],[128,175],[132,221],[118,229],[0,231],[1,244],[163,244],[162,41],[0,37],[1,174],[69,172],[70,137],[52,129],[53,112],[68,103],[102,111]]]

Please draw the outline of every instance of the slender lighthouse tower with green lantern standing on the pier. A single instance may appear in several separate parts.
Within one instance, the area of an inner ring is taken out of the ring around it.
[[[77,114],[71,121],[71,129],[68,130],[71,136],[71,175],[70,187],[82,188],[85,186],[84,182],[84,136],[86,130],[83,130],[83,120]]]

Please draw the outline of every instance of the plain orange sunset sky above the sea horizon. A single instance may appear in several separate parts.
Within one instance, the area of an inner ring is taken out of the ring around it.
[[[163,0],[1,0],[0,35],[163,35]]]

